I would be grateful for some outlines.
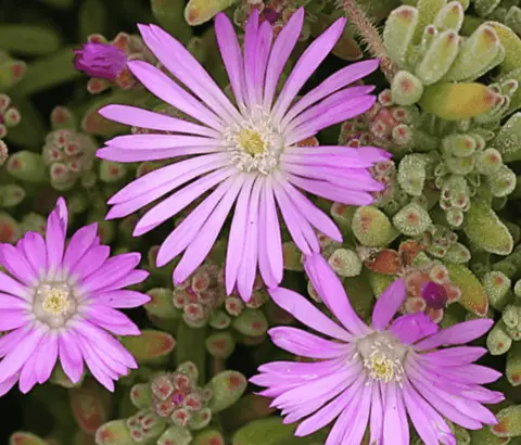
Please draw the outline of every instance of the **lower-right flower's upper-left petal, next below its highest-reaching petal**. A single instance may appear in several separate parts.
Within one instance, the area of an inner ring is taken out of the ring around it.
[[[354,340],[345,329],[326,317],[310,302],[294,291],[283,288],[270,289],[269,294],[277,305],[291,314],[302,323],[315,329],[317,332],[332,336],[344,342]]]

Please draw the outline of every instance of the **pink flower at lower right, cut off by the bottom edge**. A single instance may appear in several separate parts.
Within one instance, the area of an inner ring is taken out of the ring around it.
[[[425,445],[456,445],[445,419],[469,430],[497,423],[482,404],[499,403],[504,396],[481,384],[501,374],[473,364],[485,348],[465,346],[483,335],[493,320],[440,330],[422,313],[393,319],[406,294],[398,279],[380,296],[367,326],[321,256],[308,257],[305,267],[339,322],[293,291],[279,288],[270,294],[301,322],[333,340],[296,328],[274,328],[269,334],[275,344],[314,363],[270,363],[252,378],[267,387],[260,394],[275,397],[272,406],[282,409],[285,423],[306,418],[296,435],[336,419],[326,445],[359,445],[368,425],[371,445],[409,445],[408,416]]]

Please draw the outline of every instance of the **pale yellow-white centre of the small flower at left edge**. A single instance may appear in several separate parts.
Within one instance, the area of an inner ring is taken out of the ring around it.
[[[77,312],[78,302],[67,283],[42,282],[35,291],[35,317],[50,328],[63,327]]]

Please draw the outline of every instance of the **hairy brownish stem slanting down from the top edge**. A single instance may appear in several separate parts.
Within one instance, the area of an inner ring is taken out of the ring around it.
[[[374,58],[381,59],[382,62],[380,67],[391,82],[394,75],[398,72],[398,67],[391,59],[389,59],[387,51],[385,51],[385,47],[383,46],[377,27],[360,7],[358,7],[356,0],[339,0],[339,4],[350,18],[350,22],[355,26],[369,52]]]

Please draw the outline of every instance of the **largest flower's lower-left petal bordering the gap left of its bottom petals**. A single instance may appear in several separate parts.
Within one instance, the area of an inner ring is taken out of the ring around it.
[[[244,183],[243,175],[230,178],[231,187],[201,228],[198,237],[188,245],[185,255],[174,270],[174,283],[183,282],[201,264],[215,244],[230,209]]]

